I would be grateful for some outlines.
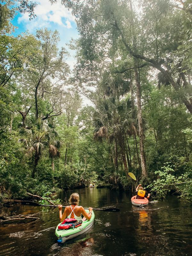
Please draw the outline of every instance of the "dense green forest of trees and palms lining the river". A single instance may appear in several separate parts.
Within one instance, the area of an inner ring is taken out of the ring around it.
[[[190,1],[141,0],[141,13],[131,1],[61,2],[80,34],[73,76],[57,31],[14,37],[16,9],[0,4],[0,200],[90,182],[134,191],[128,172],[160,198],[191,200]]]

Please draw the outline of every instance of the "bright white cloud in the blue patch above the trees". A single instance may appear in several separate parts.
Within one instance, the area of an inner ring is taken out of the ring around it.
[[[75,18],[60,1],[51,4],[49,0],[37,0],[36,3],[38,5],[35,8],[35,19],[29,21],[28,13],[23,13],[18,18],[18,23],[25,23],[29,32],[42,27],[52,27],[51,22],[64,28],[72,28],[71,22],[75,22]]]

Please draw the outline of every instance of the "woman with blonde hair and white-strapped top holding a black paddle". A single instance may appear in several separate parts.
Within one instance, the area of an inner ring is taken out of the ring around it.
[[[90,220],[91,219],[91,215],[92,215],[92,207],[89,207],[89,213],[85,212],[85,209],[83,208],[83,206],[79,206],[79,194],[77,193],[73,193],[71,194],[70,198],[69,198],[69,204],[71,204],[70,206],[66,206],[63,215],[62,215],[62,204],[59,204],[59,218],[60,218],[60,222],[62,222],[63,220],[65,220],[66,217],[68,217],[68,219],[70,218],[74,218],[77,221],[81,221],[81,214],[83,214],[83,216],[87,219]]]

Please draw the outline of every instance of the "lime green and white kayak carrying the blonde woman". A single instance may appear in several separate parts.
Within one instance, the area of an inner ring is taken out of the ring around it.
[[[89,212],[89,210],[85,210],[86,212]],[[85,220],[82,222],[82,225],[77,228],[70,228],[70,229],[61,229],[58,230],[58,226],[60,226],[61,222],[58,224],[55,235],[57,236],[58,242],[63,243],[67,241],[68,239],[74,238],[76,236],[79,236],[81,234],[84,234],[85,232],[89,231],[89,229],[92,228],[94,223],[95,214],[92,211],[92,216],[90,220]]]

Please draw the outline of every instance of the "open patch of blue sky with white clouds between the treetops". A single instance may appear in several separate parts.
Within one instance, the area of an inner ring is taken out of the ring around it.
[[[28,30],[31,34],[36,34],[36,29],[48,28],[49,30],[58,30],[60,33],[60,42],[58,47],[64,47],[70,53],[70,57],[66,61],[71,69],[75,64],[75,51],[68,48],[66,43],[69,43],[71,38],[77,39],[79,37],[76,29],[75,18],[72,16],[71,11],[68,11],[58,1],[51,4],[49,0],[36,0],[38,5],[35,8],[36,18],[29,20],[28,13],[18,13],[13,20],[13,25],[18,28],[15,30],[15,35]]]

